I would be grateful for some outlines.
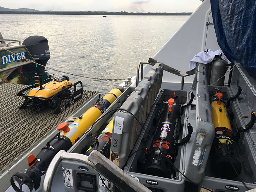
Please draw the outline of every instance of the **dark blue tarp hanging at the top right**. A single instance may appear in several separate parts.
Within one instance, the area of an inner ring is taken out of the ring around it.
[[[256,79],[256,1],[211,0],[211,7],[221,50]]]

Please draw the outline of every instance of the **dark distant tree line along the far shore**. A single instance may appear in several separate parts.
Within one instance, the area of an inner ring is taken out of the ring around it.
[[[141,12],[54,12],[54,11],[42,11],[42,12],[27,12],[27,11],[0,11],[0,14],[43,14],[43,15],[191,15],[192,12],[180,12],[180,13],[141,13]]]

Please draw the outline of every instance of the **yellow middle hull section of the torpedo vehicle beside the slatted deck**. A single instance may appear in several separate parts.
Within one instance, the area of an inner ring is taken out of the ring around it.
[[[81,119],[77,118],[72,124],[76,124],[78,126],[72,127],[69,125],[69,132],[61,133],[70,139],[72,144],[75,144],[76,138],[80,138],[91,126],[92,124],[100,117],[101,112],[100,109],[96,107],[91,107],[87,111],[84,112],[83,117]],[[71,125],[72,125],[71,124]],[[74,129],[74,130],[72,130]]]

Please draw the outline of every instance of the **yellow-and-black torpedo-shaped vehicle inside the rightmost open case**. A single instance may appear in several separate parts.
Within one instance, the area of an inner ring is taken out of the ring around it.
[[[235,96],[223,99],[223,94],[217,89],[210,99],[212,108],[212,122],[215,127],[215,138],[212,144],[211,159],[212,172],[215,177],[234,179],[242,172],[242,164],[238,158],[236,143],[239,133],[252,128],[256,117],[251,112],[251,121],[242,128],[232,129],[228,114],[229,102],[238,98],[242,89],[239,86]],[[226,101],[226,103],[224,102]],[[235,134],[234,132],[235,131]]]

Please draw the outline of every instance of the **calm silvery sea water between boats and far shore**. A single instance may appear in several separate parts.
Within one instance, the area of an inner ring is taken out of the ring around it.
[[[0,24],[5,39],[46,37],[51,53],[48,67],[90,77],[126,78],[135,76],[138,62],[153,57],[188,17],[0,15]],[[64,75],[47,68],[45,72]],[[101,94],[122,83],[68,76]]]

